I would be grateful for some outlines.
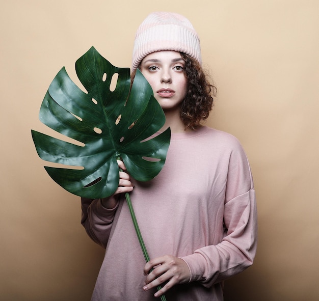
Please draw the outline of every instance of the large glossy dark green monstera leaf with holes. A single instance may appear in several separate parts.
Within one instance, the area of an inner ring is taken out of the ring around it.
[[[129,68],[114,67],[94,47],[76,61],[75,70],[87,92],[63,67],[48,88],[39,118],[79,143],[32,130],[39,156],[67,166],[45,167],[47,173],[70,193],[91,199],[115,192],[118,157],[133,178],[155,177],[165,162],[170,129],[154,135],[164,125],[165,115],[147,80],[137,70],[131,86]]]

